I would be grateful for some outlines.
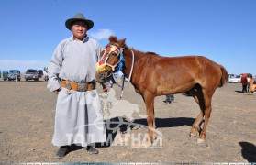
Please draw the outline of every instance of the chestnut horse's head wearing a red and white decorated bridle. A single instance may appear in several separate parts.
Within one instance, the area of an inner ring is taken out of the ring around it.
[[[119,63],[122,63],[122,51],[125,49],[125,40],[117,40],[117,37],[110,36],[109,43],[101,52],[100,60],[96,63],[95,78],[97,82],[104,83],[117,71]]]

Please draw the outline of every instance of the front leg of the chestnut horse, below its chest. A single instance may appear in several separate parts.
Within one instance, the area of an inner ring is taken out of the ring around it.
[[[150,142],[153,143],[155,133],[155,115],[154,115],[154,98],[155,96],[149,92],[143,94],[143,99],[147,109],[147,123],[149,129]]]

